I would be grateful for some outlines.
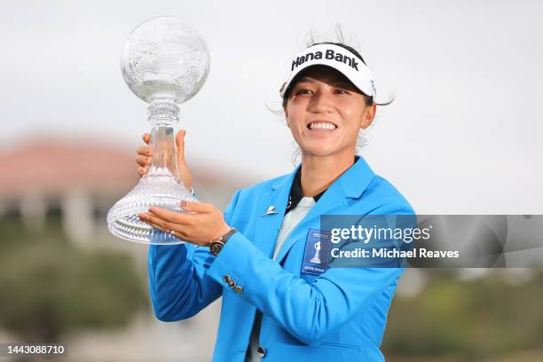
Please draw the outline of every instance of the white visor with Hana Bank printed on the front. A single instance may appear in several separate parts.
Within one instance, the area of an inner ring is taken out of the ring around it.
[[[295,76],[311,66],[328,66],[345,75],[366,96],[376,97],[374,75],[369,67],[355,54],[334,44],[317,44],[302,51],[292,60],[290,74],[279,93],[285,97]]]

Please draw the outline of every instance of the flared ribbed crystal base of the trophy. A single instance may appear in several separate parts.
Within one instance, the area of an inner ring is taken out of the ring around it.
[[[138,185],[127,193],[107,212],[107,229],[124,240],[153,245],[183,244],[166,232],[161,232],[144,223],[138,213],[148,212],[150,207],[185,212],[179,207],[181,201],[198,201],[185,185],[171,175],[146,175]]]

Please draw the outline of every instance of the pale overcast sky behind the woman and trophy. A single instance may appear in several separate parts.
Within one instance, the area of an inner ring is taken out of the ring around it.
[[[340,24],[395,96],[362,155],[419,214],[543,214],[542,14],[535,0],[6,3],[0,152],[36,139],[134,152],[149,124],[122,80],[122,43],[170,15],[198,29],[211,59],[180,106],[189,165],[285,174],[293,138],[270,108],[310,31],[334,40]]]

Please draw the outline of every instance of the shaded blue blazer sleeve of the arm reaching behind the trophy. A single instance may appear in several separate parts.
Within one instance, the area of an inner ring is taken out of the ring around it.
[[[230,224],[238,190],[224,209]],[[157,319],[171,322],[193,317],[222,295],[223,287],[207,271],[215,256],[193,244],[150,245],[147,258],[149,295]]]

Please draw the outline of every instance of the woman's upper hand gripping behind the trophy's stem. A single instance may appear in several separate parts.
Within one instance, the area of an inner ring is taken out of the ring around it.
[[[177,172],[179,172],[179,177],[187,190],[191,190],[193,187],[193,175],[191,174],[190,169],[186,165],[185,161],[185,130],[179,130],[176,135],[176,146],[177,146]],[[149,146],[149,141],[151,140],[151,134],[144,133],[143,140],[146,143],[145,146],[139,146],[136,156],[136,162],[138,163],[138,174],[140,177],[146,175],[149,170],[149,166],[153,161],[153,150]]]

